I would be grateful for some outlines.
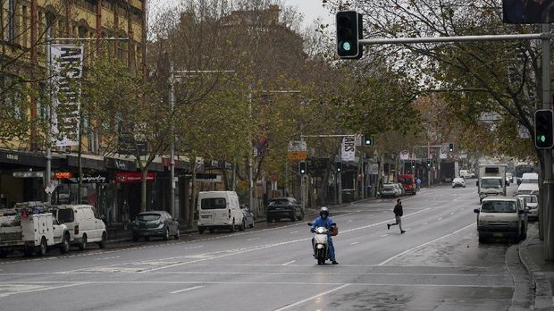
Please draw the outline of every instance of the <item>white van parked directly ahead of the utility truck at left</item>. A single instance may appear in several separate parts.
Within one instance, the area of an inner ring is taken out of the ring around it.
[[[94,211],[94,207],[88,205],[62,205],[56,206],[53,214],[58,222],[67,226],[71,244],[79,245],[83,250],[87,248],[87,243],[97,242],[100,248],[105,248],[105,223],[97,218]]]

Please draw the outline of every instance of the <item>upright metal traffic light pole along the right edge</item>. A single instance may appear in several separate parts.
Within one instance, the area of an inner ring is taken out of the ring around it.
[[[542,108],[552,109],[550,94],[550,24],[542,24]],[[546,35],[549,35],[548,37]],[[552,211],[552,149],[544,149],[544,167],[542,171],[542,215],[544,222],[544,256],[546,260],[554,260],[554,212]],[[541,219],[539,219],[541,221]]]

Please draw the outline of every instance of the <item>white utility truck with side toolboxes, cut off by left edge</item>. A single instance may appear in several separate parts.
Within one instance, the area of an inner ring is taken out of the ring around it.
[[[0,256],[7,256],[14,250],[26,256],[33,253],[45,256],[48,248],[60,248],[69,252],[70,232],[60,224],[52,213],[32,207],[4,209],[0,214]]]

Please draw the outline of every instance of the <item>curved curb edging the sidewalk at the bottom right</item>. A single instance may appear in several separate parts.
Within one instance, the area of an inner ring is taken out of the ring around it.
[[[523,245],[518,250],[519,260],[523,263],[527,274],[531,278],[531,284],[534,291],[533,310],[553,310],[552,287],[546,273],[542,272],[540,267],[534,263],[529,256],[528,245],[537,238],[537,233],[533,237],[527,237]]]

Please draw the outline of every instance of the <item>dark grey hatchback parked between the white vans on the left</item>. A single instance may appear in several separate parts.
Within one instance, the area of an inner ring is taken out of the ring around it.
[[[150,240],[150,237],[162,237],[164,240],[180,238],[179,223],[165,211],[139,213],[132,223],[132,231],[134,241],[139,238]]]

